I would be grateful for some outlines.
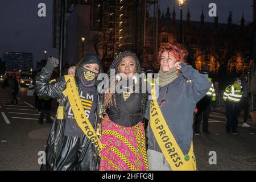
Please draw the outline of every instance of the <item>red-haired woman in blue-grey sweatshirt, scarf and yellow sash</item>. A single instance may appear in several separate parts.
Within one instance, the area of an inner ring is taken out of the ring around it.
[[[195,170],[192,125],[196,103],[210,88],[208,79],[184,64],[184,48],[177,44],[160,47],[159,77],[151,90],[146,118],[150,170]],[[159,88],[159,89],[155,89]]]

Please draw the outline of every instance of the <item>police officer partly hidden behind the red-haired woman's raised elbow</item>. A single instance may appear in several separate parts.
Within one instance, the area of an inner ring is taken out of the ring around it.
[[[205,77],[208,78],[209,82],[212,84],[210,87],[209,91],[207,94],[196,104],[197,107],[197,113],[196,113],[196,118],[195,118],[195,125],[194,125],[194,130],[195,130],[195,135],[200,134],[200,124],[201,120],[203,117],[203,132],[210,134],[208,130],[208,119],[210,115],[210,106],[212,102],[216,101],[216,93],[213,87],[212,83],[212,78],[208,77],[208,71],[203,71],[201,72],[202,74],[205,75]]]

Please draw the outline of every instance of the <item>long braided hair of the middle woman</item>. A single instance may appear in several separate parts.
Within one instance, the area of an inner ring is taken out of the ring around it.
[[[141,74],[142,70],[141,70],[141,65],[139,64],[139,60],[137,58],[137,56],[135,55],[135,53],[131,52],[131,51],[124,51],[119,53],[119,55],[117,57],[115,57],[115,59],[113,60],[112,64],[110,65],[109,71],[108,71],[108,77],[109,77],[109,85],[111,84],[110,80],[115,80],[115,76],[118,75],[119,71],[118,71],[118,66],[121,63],[122,59],[124,57],[127,56],[131,56],[133,57],[133,59],[135,60],[136,63],[136,70],[135,73],[137,74]],[[115,74],[114,77],[110,77],[110,70],[114,69],[115,70]],[[119,109],[120,107],[118,106],[121,103],[121,99],[122,99],[122,94],[120,93],[110,93],[110,90],[114,90],[115,85],[117,85],[117,80],[115,80],[113,85],[109,86],[109,92],[108,93],[104,93],[104,101],[103,101],[103,108],[106,110],[108,109],[110,106],[114,105],[115,109],[118,110],[118,115],[121,115],[121,110]],[[111,89],[112,88],[112,89]],[[141,98],[141,119],[144,117],[145,113],[146,113],[146,104],[147,104],[147,94],[146,93],[142,93],[142,81],[139,81],[139,96]]]

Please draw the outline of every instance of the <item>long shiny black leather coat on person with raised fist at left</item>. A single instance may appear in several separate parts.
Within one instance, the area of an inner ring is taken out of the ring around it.
[[[77,70],[82,67],[84,64],[89,63],[97,63],[97,61],[94,60],[95,57],[86,57],[80,61],[80,63],[77,65]],[[101,66],[101,63],[98,63]],[[101,67],[100,67],[101,68]],[[78,72],[80,73],[80,72]],[[65,97],[63,94],[63,91],[66,88],[66,81],[64,76],[59,77],[56,79],[56,81],[53,81],[49,83],[49,80],[51,78],[52,72],[47,71],[46,68],[42,69],[42,71],[36,76],[35,79],[35,92],[38,94],[38,96],[46,96],[50,98],[56,98],[60,99],[60,106],[69,107],[69,101],[68,97]],[[76,84],[79,84],[79,75],[76,74]],[[98,117],[98,113],[101,106],[101,96],[98,94],[98,104],[97,104],[97,111],[96,111],[96,122],[93,126],[96,130],[97,123],[100,122],[100,118]],[[57,114],[55,116],[55,120],[53,122],[53,125],[51,127],[51,131],[49,133],[49,137],[47,140],[47,147],[46,147],[46,165],[41,166],[41,170],[56,170],[56,159],[57,156],[61,155],[59,150],[61,148],[61,145],[63,143],[64,138],[64,131],[65,131],[65,122],[66,119],[57,119]],[[71,146],[68,146],[64,148],[64,150],[70,150],[72,148]],[[86,152],[90,152],[92,155],[86,155],[86,162],[93,164],[90,165],[88,171],[96,171],[98,170],[98,164],[99,164],[99,158],[97,155],[97,150],[94,148],[93,144],[90,142],[90,140],[87,138],[86,144],[85,144],[85,150]],[[63,150],[63,148],[61,148]]]

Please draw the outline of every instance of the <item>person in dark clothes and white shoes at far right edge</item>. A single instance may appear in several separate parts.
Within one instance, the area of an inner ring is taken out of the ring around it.
[[[242,127],[250,127],[247,124],[247,118],[249,113],[249,93],[248,93],[248,76],[246,74],[241,75],[243,94],[241,98],[241,110],[243,110],[243,125]],[[241,112],[240,110],[240,112]]]

